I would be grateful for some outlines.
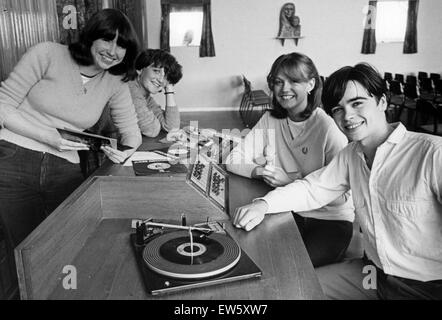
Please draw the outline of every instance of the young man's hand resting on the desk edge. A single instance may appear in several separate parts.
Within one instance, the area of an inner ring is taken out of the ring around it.
[[[264,220],[268,207],[264,200],[256,200],[251,204],[237,208],[232,223],[237,228],[250,231]]]

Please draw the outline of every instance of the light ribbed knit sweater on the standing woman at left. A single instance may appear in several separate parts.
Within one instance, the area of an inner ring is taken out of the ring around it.
[[[123,145],[138,147],[141,134],[127,83],[107,71],[83,84],[68,47],[44,42],[30,48],[0,86],[0,140],[48,152],[78,163],[76,151],[59,152],[40,141],[8,130],[13,113],[46,128],[83,131],[92,127],[109,104]]]

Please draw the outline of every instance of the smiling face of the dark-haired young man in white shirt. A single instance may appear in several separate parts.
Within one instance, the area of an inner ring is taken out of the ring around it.
[[[384,132],[386,107],[385,96],[378,102],[359,82],[349,81],[344,96],[331,108],[331,114],[349,140],[364,143]]]

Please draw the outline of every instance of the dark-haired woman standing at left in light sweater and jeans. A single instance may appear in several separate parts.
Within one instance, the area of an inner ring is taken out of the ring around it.
[[[127,81],[136,75],[138,41],[118,10],[95,14],[77,43],[40,43],[0,86],[0,219],[17,246],[83,181],[82,143],[56,128],[84,130],[106,104],[125,151],[103,148],[116,163],[141,143]]]

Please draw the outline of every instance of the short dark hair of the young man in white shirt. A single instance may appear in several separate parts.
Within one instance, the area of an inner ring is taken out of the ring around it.
[[[379,103],[386,95],[386,86],[380,73],[368,63],[358,63],[354,67],[346,66],[333,72],[324,84],[322,103],[324,110],[332,115],[331,110],[341,101],[347,90],[348,82],[359,82]]]

